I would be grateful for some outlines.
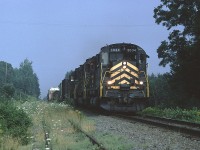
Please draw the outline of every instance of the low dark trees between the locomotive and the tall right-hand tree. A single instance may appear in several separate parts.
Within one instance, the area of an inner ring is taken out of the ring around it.
[[[162,108],[180,107],[185,109],[200,107],[199,99],[194,97],[187,99],[184,93],[177,92],[169,82],[169,74],[151,74],[149,76],[150,106]]]

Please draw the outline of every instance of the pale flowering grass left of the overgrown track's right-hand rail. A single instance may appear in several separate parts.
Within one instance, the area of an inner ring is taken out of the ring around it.
[[[21,107],[33,120],[32,137],[30,137],[33,148],[44,149],[44,134],[48,132],[52,149],[98,149],[70,124],[69,120],[72,120],[80,127],[94,130],[94,127],[89,127],[93,124],[84,119],[81,112],[73,110],[69,105],[29,101]]]

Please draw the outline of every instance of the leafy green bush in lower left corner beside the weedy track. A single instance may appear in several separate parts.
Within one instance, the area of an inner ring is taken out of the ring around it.
[[[6,149],[11,141],[17,145],[28,144],[28,129],[31,125],[29,116],[14,102],[0,101],[0,149]]]

